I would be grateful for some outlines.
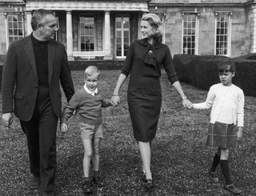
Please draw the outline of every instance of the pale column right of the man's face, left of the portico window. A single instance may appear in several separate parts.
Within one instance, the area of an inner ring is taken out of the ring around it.
[[[66,10],[66,54],[69,60],[74,60],[72,14],[70,10]]]

